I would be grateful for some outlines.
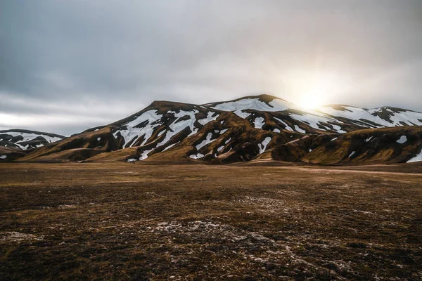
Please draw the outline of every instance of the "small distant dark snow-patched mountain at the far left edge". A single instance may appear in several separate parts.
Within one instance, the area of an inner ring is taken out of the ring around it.
[[[8,148],[19,148],[27,150],[30,148],[39,148],[47,143],[55,143],[65,138],[54,133],[41,133],[29,130],[5,130],[0,131],[0,146]]]

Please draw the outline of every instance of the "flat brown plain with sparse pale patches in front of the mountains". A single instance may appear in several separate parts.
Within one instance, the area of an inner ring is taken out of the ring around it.
[[[422,166],[0,164],[1,280],[421,280]]]

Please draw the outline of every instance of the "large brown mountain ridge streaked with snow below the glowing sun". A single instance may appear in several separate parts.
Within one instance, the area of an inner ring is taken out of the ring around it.
[[[328,161],[323,157],[324,153],[344,150],[343,145],[351,143],[349,136],[359,135],[362,131],[364,138],[366,129],[373,130],[376,136],[391,135],[392,139],[404,133],[402,126],[414,126],[410,127],[414,131],[407,132],[409,139],[416,139],[420,137],[418,126],[421,125],[422,113],[411,110],[395,107],[367,110],[348,105],[327,105],[319,110],[305,111],[269,95],[205,105],[155,101],[140,112],[112,124],[88,129],[58,143],[37,148],[20,157],[19,161],[141,160],[151,164],[226,164],[276,159],[350,164],[352,162],[340,156]],[[394,128],[383,131],[387,127]],[[335,138],[343,144],[332,146]],[[388,145],[388,141],[380,141],[379,145]],[[362,146],[362,151],[364,148],[383,150],[380,146]],[[409,157],[416,157],[419,150],[420,145],[416,142],[406,150],[397,150],[397,153],[407,153],[407,157],[384,157],[382,161],[405,162]]]

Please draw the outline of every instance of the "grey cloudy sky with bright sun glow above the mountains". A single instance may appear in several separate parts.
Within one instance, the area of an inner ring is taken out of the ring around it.
[[[421,50],[421,0],[0,0],[0,129],[260,93],[422,112]]]

